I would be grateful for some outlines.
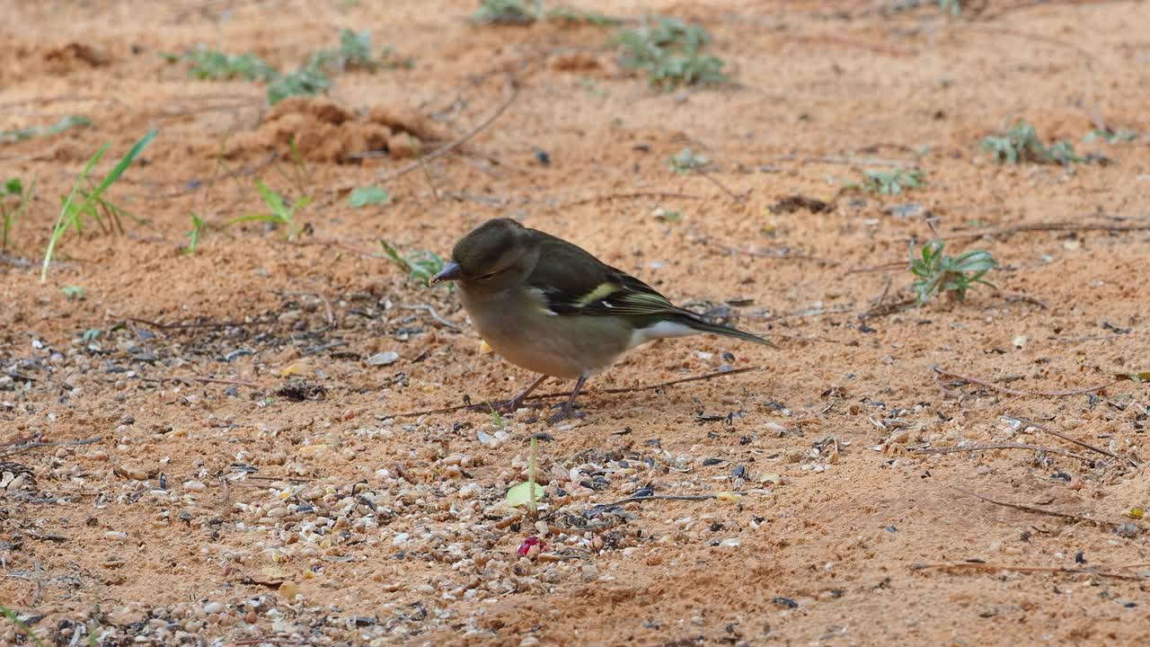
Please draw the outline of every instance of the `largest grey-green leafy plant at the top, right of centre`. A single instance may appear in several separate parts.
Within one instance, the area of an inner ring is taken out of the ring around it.
[[[710,41],[703,25],[665,16],[644,16],[638,26],[612,40],[621,50],[622,64],[645,71],[647,82],[661,90],[727,81],[723,61],[703,54]]]

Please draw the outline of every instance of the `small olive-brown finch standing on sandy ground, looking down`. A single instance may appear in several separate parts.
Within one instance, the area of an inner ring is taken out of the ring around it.
[[[653,340],[713,333],[779,348],[736,328],[677,307],[654,288],[590,252],[511,218],[466,234],[429,283],[453,281],[480,336],[505,360],[540,376],[507,401],[514,412],[547,378],[575,380],[549,418],[581,418],[575,410],[588,379],[627,350]]]

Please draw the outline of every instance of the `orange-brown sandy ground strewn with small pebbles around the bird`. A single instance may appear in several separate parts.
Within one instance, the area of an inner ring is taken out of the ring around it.
[[[0,144],[0,178],[37,178],[0,257],[0,601],[45,645],[1141,644],[1150,5],[580,5],[703,23],[731,82],[672,92],[611,29],[473,2],[8,7],[0,129],[92,125]],[[268,111],[159,55],[292,68],[344,26],[414,67]],[[1109,163],[996,163],[1017,117]],[[1138,135],[1083,142],[1099,123]],[[108,193],[146,222],[69,233],[41,283],[60,196],[151,127]],[[706,176],[668,169],[684,147]],[[925,185],[843,190],[888,162]],[[256,177],[312,198],[298,237],[223,227]],[[446,254],[504,215],[782,350],[654,343],[570,425],[401,416],[531,376],[377,239]],[[996,289],[906,303],[930,223]],[[532,519],[504,495],[538,433]]]

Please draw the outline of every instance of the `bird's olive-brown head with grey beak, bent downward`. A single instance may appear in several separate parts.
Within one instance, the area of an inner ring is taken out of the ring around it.
[[[431,283],[457,281],[463,289],[499,290],[522,281],[537,260],[531,230],[509,218],[476,227],[455,243],[451,262]]]

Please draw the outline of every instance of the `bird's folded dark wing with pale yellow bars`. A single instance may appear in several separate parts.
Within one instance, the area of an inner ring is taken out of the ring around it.
[[[540,236],[539,262],[528,276],[527,287],[536,290],[557,315],[691,314],[588,251],[546,234]]]

